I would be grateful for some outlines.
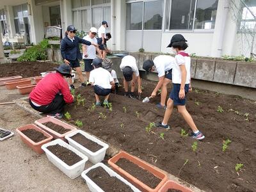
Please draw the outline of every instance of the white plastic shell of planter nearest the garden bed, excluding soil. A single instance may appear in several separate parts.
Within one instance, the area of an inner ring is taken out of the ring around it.
[[[102,148],[100,148],[100,150],[97,150],[96,152],[92,152],[91,150],[84,147],[83,145],[80,145],[79,143],[72,140],[72,138],[71,138],[72,136],[74,136],[77,133],[82,134],[88,140],[92,140],[93,142],[98,143],[99,145],[102,146]],[[92,135],[90,135],[90,134],[88,134],[84,131],[81,131],[81,130],[77,130],[77,131],[71,132],[70,134],[67,134],[65,136],[65,139],[68,140],[69,145],[76,148],[77,150],[79,150],[84,155],[86,155],[89,158],[89,161],[91,161],[93,164],[99,163],[100,161],[102,161],[104,159],[105,154],[106,154],[106,150],[109,147],[108,144],[98,140],[94,136],[92,136]]]

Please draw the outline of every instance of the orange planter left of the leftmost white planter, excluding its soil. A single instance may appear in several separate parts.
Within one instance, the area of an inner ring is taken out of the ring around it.
[[[33,140],[28,138],[28,136],[26,136],[25,134],[23,134],[21,132],[21,131],[24,131],[24,130],[27,130],[27,129],[35,129],[36,131],[42,132],[42,134],[44,134],[44,136],[47,137],[47,139],[42,140],[38,143],[35,143]],[[25,125],[23,127],[19,127],[19,128],[16,129],[16,132],[19,133],[20,139],[23,141],[23,143],[28,145],[28,147],[32,148],[38,154],[44,153],[44,151],[41,148],[42,145],[44,145],[45,143],[48,143],[49,141],[52,140],[51,134],[48,134],[47,132],[45,132],[44,130],[40,129],[39,127],[37,127],[36,125],[33,125],[33,124],[29,124],[29,125]]]

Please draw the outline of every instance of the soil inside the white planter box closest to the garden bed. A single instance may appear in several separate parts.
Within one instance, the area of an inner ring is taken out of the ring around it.
[[[79,143],[80,145],[83,145],[83,147],[88,148],[92,152],[97,152],[97,150],[100,150],[100,148],[102,148],[101,145],[93,142],[92,140],[88,140],[85,136],[83,136],[83,134],[80,134],[79,132],[70,138]]]

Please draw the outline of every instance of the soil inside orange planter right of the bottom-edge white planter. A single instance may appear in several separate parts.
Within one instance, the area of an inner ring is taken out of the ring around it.
[[[152,189],[156,188],[161,182],[161,179],[127,159],[121,158],[116,162],[116,164],[125,170],[125,172],[130,173],[133,177]]]

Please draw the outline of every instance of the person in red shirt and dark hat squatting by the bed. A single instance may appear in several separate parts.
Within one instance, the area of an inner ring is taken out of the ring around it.
[[[29,94],[29,104],[33,109],[41,113],[48,113],[47,116],[62,118],[63,107],[74,101],[68,88],[65,77],[70,77],[71,68],[69,65],[60,65],[56,73],[45,76]]]

